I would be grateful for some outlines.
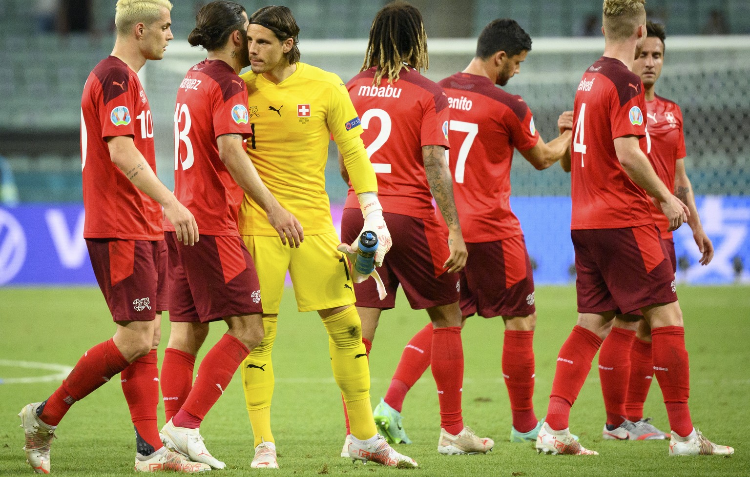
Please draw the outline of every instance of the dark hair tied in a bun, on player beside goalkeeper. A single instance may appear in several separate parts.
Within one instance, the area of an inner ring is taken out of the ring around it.
[[[195,16],[195,28],[187,35],[187,43],[208,51],[222,48],[235,31],[245,30],[245,7],[234,1],[217,0],[205,4]]]

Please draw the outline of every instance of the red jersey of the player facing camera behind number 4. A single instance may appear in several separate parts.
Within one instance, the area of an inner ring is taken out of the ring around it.
[[[682,133],[682,111],[670,100],[655,95],[653,101],[646,101],[646,117],[649,125],[651,150],[649,159],[661,182],[674,192],[674,168],[678,159],[685,157],[685,136]],[[669,220],[651,202],[651,215],[661,238],[672,237],[667,232]]]

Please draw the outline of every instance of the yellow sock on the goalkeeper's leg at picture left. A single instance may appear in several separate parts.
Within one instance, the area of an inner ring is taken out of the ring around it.
[[[263,329],[266,335],[240,366],[242,386],[245,389],[245,404],[248,406],[248,416],[255,437],[254,446],[263,441],[275,442],[271,432],[271,400],[274,395],[274,366],[271,361],[271,350],[276,339],[277,320],[275,316],[263,317]]]

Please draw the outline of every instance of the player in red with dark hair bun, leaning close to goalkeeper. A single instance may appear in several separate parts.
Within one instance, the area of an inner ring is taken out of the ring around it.
[[[187,249],[167,226],[169,320],[172,331],[161,374],[166,417],[163,440],[191,461],[223,469],[202,441],[199,426],[239,364],[263,339],[260,285],[237,228],[243,191],[260,204],[281,240],[299,246],[302,227],[269,192],[245,155],[252,136],[248,91],[238,73],[248,66],[248,14],[233,1],[199,10],[187,37],[208,58],[187,71],[175,108],[175,195],[199,223],[199,243]],[[193,364],[208,323],[229,330]]]

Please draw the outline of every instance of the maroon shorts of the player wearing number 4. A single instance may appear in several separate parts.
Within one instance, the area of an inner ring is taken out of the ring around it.
[[[578,312],[630,313],[677,300],[667,246],[654,225],[572,230]]]

